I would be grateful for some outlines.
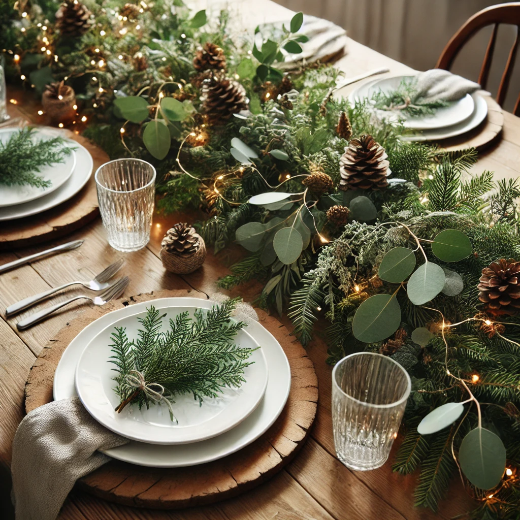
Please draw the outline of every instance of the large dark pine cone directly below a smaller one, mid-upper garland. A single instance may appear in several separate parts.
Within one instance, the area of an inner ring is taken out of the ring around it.
[[[244,88],[228,77],[205,80],[202,91],[203,109],[210,124],[223,124],[248,107]]]

